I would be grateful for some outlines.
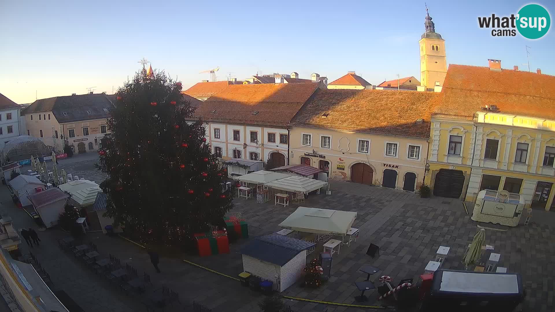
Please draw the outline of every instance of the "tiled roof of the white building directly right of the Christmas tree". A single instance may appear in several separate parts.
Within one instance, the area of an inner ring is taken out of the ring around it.
[[[318,87],[317,83],[230,85],[200,105],[195,116],[212,122],[286,127]]]

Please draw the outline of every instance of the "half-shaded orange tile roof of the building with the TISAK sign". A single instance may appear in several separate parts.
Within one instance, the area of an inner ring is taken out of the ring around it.
[[[320,90],[291,125],[428,138],[430,116],[441,98],[435,92]]]

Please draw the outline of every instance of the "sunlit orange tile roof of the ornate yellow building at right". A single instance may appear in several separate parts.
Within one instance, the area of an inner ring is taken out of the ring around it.
[[[434,114],[471,120],[485,105],[499,113],[555,119],[555,76],[450,64]]]

